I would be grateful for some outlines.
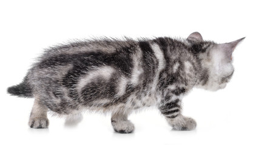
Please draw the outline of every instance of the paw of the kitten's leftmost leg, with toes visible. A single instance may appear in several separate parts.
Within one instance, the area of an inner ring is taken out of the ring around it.
[[[35,129],[44,129],[49,126],[49,120],[46,117],[30,118],[29,126]]]

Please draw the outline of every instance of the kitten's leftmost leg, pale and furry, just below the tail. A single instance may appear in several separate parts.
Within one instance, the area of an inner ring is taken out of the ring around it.
[[[49,126],[47,111],[47,106],[35,98],[34,105],[30,114],[29,126],[36,129],[47,128]]]

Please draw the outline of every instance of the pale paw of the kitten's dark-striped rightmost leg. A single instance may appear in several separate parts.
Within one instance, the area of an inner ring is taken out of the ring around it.
[[[193,118],[184,117],[183,121],[172,125],[174,130],[194,130],[197,122]]]

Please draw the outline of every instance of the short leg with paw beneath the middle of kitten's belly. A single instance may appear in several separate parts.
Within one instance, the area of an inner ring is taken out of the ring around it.
[[[111,123],[113,129],[121,134],[129,134],[134,130],[134,125],[128,119],[128,114],[125,112],[113,112],[111,117]]]

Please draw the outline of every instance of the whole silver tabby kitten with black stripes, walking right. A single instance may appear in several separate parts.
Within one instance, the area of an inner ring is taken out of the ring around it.
[[[184,95],[194,88],[225,88],[234,67],[229,43],[186,39],[100,39],[72,42],[45,50],[22,83],[8,93],[35,98],[29,126],[47,128],[47,112],[74,115],[111,112],[113,129],[131,133],[132,111],[157,106],[175,130],[193,130],[194,119],[181,114]]]

